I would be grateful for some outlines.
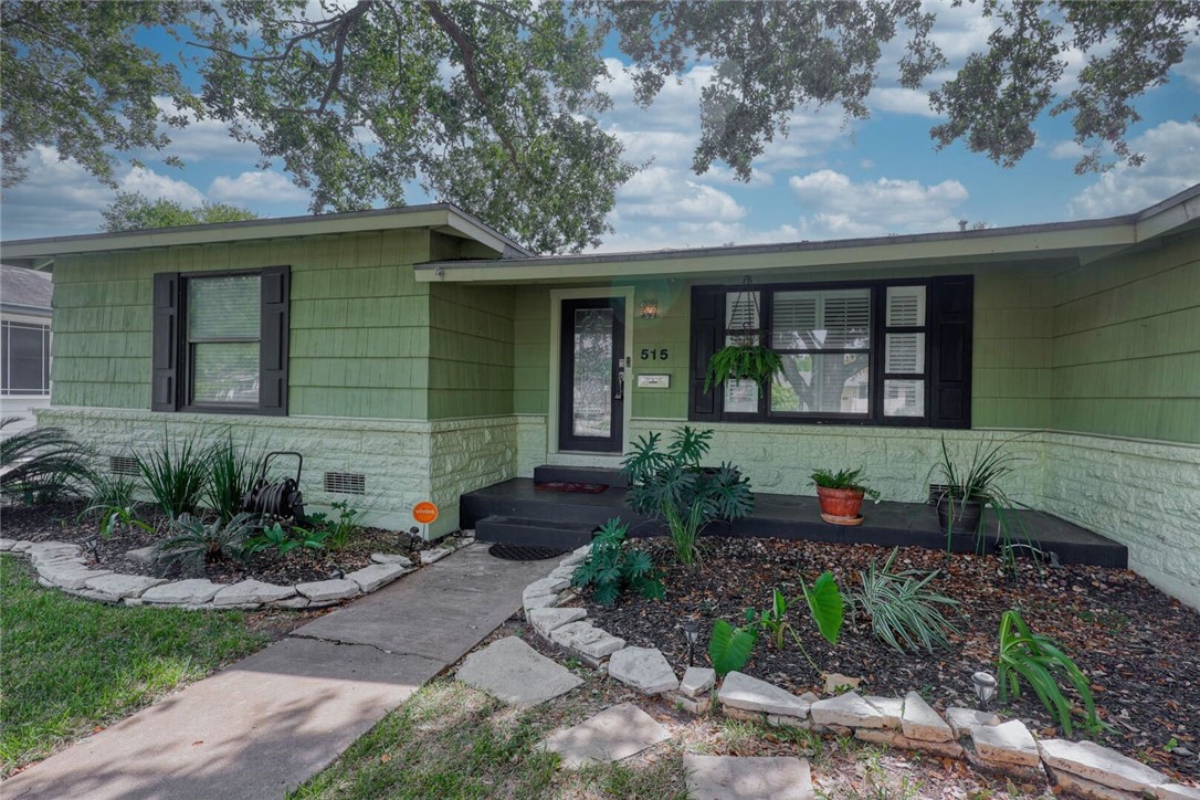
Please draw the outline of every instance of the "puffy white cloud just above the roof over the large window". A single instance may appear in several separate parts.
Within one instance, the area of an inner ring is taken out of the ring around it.
[[[830,169],[792,176],[788,186],[811,210],[800,217],[800,231],[809,239],[953,230],[961,216],[955,209],[968,197],[955,180],[930,186],[888,178],[856,184]]]

